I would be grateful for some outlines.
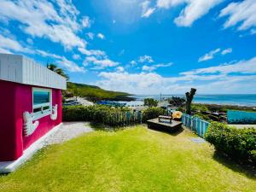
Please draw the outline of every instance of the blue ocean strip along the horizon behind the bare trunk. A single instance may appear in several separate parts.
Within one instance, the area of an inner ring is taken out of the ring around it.
[[[162,95],[162,98],[184,95]],[[134,104],[141,104],[144,98],[154,98],[160,101],[160,95],[137,95],[133,96],[137,99]],[[256,94],[244,95],[195,95],[193,102],[207,104],[226,104],[256,107]]]

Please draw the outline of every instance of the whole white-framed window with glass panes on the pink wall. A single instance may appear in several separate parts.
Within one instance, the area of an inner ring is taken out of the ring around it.
[[[32,88],[33,120],[41,119],[52,110],[52,90]]]

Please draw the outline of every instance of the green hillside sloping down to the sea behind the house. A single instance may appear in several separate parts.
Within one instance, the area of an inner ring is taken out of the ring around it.
[[[90,101],[96,102],[100,100],[110,101],[132,101],[131,95],[125,92],[117,92],[111,90],[103,90],[102,88],[89,84],[75,84],[68,82],[67,91],[64,96],[81,96],[87,97]]]

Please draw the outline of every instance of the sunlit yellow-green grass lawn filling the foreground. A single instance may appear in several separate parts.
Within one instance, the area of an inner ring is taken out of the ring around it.
[[[143,126],[95,131],[44,148],[17,172],[0,177],[0,191],[255,191],[255,177],[192,143]]]

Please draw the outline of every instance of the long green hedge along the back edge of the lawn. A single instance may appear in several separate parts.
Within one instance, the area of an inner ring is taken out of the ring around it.
[[[63,108],[64,121],[92,121],[105,125],[119,126],[146,122],[164,114],[162,108],[148,108],[143,112],[135,112],[129,108],[113,108],[104,105],[89,107],[74,106]]]

